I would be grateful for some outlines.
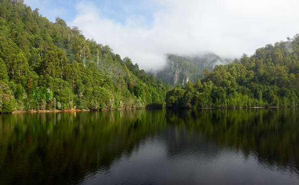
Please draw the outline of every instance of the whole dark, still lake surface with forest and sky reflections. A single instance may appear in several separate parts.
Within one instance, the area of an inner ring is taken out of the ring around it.
[[[0,184],[299,185],[299,109],[3,114]]]

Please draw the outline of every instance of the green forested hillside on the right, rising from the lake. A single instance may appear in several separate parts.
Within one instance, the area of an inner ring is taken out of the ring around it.
[[[299,105],[299,35],[218,65],[202,80],[168,92],[168,108]]]

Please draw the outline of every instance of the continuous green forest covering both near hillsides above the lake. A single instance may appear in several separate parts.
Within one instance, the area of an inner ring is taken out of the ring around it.
[[[296,107],[299,35],[203,74],[170,90],[63,19],[0,0],[0,112]]]

